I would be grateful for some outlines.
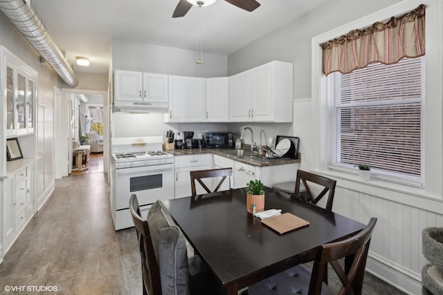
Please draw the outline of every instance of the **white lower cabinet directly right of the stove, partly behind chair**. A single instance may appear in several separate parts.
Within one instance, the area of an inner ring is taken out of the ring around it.
[[[213,154],[205,153],[201,155],[177,155],[174,157],[174,182],[175,198],[191,196],[191,177],[190,171],[213,169]],[[213,182],[208,179],[205,182],[208,188],[212,189]],[[197,193],[206,193],[206,191],[197,186]]]

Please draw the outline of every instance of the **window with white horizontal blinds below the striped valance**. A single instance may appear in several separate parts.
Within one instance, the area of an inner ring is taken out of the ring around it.
[[[424,57],[370,64],[327,83],[327,166],[424,184]]]

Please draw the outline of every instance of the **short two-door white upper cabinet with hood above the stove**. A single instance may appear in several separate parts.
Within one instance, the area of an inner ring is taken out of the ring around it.
[[[114,105],[121,111],[168,111],[168,75],[130,70],[114,72]]]

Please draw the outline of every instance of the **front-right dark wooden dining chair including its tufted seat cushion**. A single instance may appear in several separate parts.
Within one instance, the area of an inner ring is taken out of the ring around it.
[[[376,222],[377,218],[371,218],[368,225],[354,236],[318,247],[312,272],[305,265],[296,265],[249,286],[248,294],[361,294],[366,258]],[[341,258],[346,258],[347,270],[343,270],[338,263]],[[341,287],[338,292],[334,292],[323,282],[328,263],[332,265],[340,280]]]

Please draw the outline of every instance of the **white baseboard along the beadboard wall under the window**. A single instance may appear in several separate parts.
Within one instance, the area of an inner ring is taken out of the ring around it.
[[[419,274],[370,253],[366,261],[366,271],[397,289],[411,295],[422,294],[422,278]]]

